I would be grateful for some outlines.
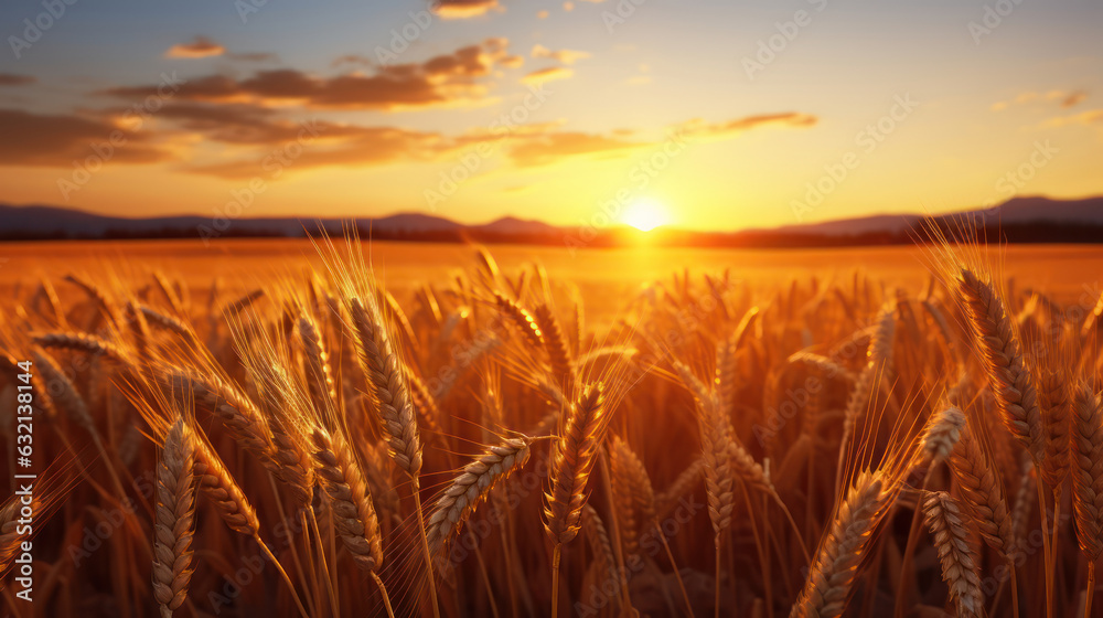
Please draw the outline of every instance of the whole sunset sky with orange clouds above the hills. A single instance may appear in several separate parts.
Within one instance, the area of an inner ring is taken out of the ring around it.
[[[772,227],[1103,194],[1096,0],[6,0],[0,202]]]

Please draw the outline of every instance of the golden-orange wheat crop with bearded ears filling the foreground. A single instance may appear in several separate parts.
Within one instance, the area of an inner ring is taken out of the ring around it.
[[[9,287],[2,467],[31,392],[39,468],[4,614],[1103,615],[1097,289],[945,241],[920,276],[630,292],[371,248]]]

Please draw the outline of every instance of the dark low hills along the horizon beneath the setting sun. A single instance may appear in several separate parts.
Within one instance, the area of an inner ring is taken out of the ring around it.
[[[985,239],[1013,243],[1103,243],[1103,196],[1084,200],[1015,198],[986,210],[942,215],[872,215],[786,225],[773,230],[694,232],[658,228],[649,243],[674,246],[842,246],[914,242],[934,230],[956,232],[962,224]],[[525,243],[568,246],[630,244],[640,233],[624,226],[581,231],[507,216],[467,225],[422,213],[355,220],[264,217],[215,220],[197,215],[126,219],[51,205],[0,204],[0,241],[81,238],[302,237],[325,231],[340,235],[349,225],[362,237],[420,242]],[[585,232],[585,233],[583,233]]]

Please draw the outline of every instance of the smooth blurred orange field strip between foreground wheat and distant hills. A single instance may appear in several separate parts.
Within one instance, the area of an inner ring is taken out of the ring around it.
[[[570,252],[557,247],[494,245],[499,265],[507,271],[533,260],[557,281],[579,287],[593,318],[609,318],[641,286],[668,278],[685,268],[700,273],[731,269],[732,278],[758,289],[788,285],[812,276],[847,280],[856,269],[880,281],[918,291],[930,278],[925,249],[917,247],[857,247],[833,249],[697,249],[593,248]],[[443,285],[459,269],[475,265],[472,247],[456,244],[374,242],[372,263],[377,275],[400,300],[421,283]],[[1016,245],[989,252],[988,262],[1011,278],[1035,286],[1059,302],[1077,302],[1086,291],[1099,296],[1103,246]],[[120,266],[120,264],[129,266]],[[226,239],[204,246],[199,241],[50,242],[0,244],[0,292],[36,285],[40,276],[160,269],[186,280],[203,297],[219,277],[229,288],[254,289],[282,274],[300,275],[306,264],[321,260],[309,241]],[[146,273],[133,273],[135,275]],[[78,295],[71,286],[58,294]]]

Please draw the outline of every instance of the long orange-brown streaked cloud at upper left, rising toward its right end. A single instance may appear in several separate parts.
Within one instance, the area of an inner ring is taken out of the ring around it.
[[[320,77],[295,68],[258,71],[238,79],[225,75],[196,77],[175,93],[176,100],[304,105],[325,109],[385,109],[443,107],[484,99],[486,88],[478,78],[508,57],[505,39],[488,39],[450,54],[417,64],[374,67],[370,74],[347,73]],[[343,56],[340,61],[347,62]],[[157,86],[117,87],[100,94],[141,98]]]

